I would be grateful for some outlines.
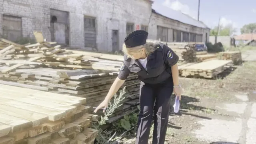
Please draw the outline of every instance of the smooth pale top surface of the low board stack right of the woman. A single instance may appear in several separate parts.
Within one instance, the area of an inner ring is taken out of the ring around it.
[[[200,62],[190,66],[186,66],[183,69],[194,69],[194,70],[214,70],[220,66],[232,63],[232,60],[210,60],[207,62]]]

